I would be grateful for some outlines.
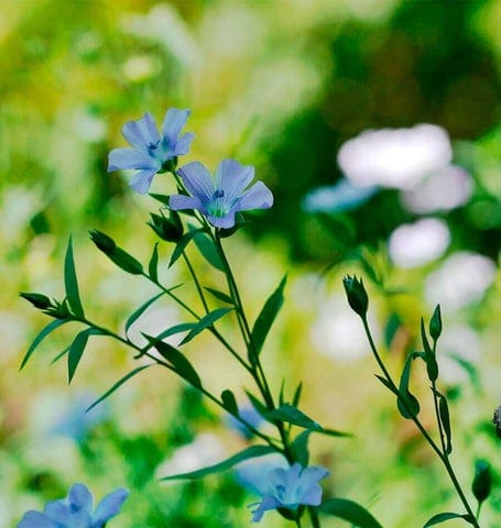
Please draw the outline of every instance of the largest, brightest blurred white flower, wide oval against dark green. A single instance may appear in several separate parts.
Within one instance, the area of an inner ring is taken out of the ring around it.
[[[449,165],[451,157],[444,129],[417,124],[411,129],[364,131],[341,146],[338,164],[356,186],[409,189],[427,174]]]

